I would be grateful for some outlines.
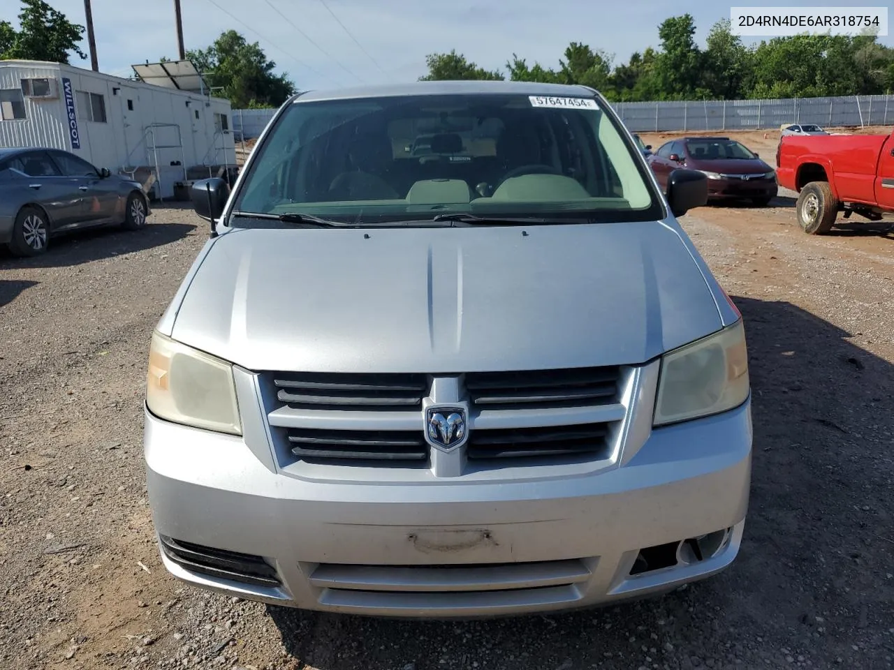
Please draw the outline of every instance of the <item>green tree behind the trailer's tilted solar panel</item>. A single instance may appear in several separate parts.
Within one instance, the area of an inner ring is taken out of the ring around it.
[[[257,42],[249,44],[235,30],[221,33],[205,49],[187,50],[186,57],[234,109],[278,107],[297,90],[288,74],[275,74],[276,63]]]

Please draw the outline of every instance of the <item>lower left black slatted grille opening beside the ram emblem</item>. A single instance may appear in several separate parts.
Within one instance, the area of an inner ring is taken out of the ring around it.
[[[425,460],[426,442],[419,431],[288,431],[291,453],[301,458],[358,460]]]

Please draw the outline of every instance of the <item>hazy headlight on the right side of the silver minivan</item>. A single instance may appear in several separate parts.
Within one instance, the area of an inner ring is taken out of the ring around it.
[[[744,403],[749,389],[745,326],[739,319],[662,356],[654,425],[720,414]]]

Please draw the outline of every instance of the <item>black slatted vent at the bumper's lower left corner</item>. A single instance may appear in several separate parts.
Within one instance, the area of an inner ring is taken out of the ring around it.
[[[192,542],[160,536],[165,556],[194,573],[255,586],[280,586],[273,565],[264,558],[226,549],[212,549]]]

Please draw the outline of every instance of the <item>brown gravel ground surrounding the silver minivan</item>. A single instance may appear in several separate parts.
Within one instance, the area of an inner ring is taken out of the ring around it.
[[[0,667],[891,667],[894,227],[811,238],[777,204],[683,218],[746,317],[755,461],[737,562],[663,599],[493,621],[310,614],[173,580],[141,402],[149,333],[207,224],[164,206],[139,233],[0,255]]]

